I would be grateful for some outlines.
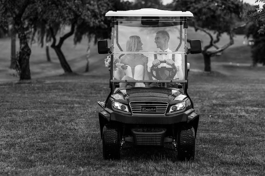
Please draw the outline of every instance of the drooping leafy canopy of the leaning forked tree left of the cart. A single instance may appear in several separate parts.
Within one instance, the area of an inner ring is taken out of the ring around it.
[[[40,7],[42,16],[37,24],[37,34],[43,43],[44,34],[49,38],[49,31],[45,28],[52,27],[54,33],[65,26],[74,24],[74,44],[80,42],[84,35],[101,38],[110,38],[110,18],[105,17],[109,10],[128,10],[129,1],[120,0],[47,0]],[[45,25],[44,25],[45,24]],[[44,25],[44,26],[43,26]],[[46,26],[46,27],[45,27]]]

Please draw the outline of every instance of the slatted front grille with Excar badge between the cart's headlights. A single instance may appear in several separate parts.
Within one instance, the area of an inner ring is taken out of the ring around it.
[[[132,101],[130,102],[130,107],[132,114],[165,114],[168,103],[161,101]]]

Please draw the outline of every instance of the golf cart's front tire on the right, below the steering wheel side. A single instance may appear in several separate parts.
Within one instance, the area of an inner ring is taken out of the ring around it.
[[[195,132],[193,126],[182,126],[178,129],[177,159],[181,161],[194,160]]]

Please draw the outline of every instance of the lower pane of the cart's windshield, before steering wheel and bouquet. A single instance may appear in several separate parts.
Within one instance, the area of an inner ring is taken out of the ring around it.
[[[160,62],[157,67],[155,58]],[[185,54],[113,54],[113,81],[181,82],[185,80],[184,58]]]

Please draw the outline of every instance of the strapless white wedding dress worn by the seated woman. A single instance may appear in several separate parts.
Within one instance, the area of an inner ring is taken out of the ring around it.
[[[125,70],[125,75],[129,76],[135,80],[143,80],[144,79],[144,66],[143,65],[136,65],[134,68],[134,75],[132,76],[132,68],[127,65],[127,69]],[[143,82],[136,82],[135,87],[145,87],[145,83]]]

